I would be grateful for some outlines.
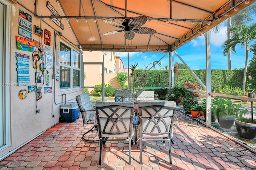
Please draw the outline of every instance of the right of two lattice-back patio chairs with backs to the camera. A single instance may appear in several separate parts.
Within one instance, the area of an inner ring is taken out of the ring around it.
[[[169,158],[172,164],[171,143],[172,127],[176,114],[174,101],[138,102],[140,131],[140,164],[142,164],[142,141],[161,140],[169,144]]]

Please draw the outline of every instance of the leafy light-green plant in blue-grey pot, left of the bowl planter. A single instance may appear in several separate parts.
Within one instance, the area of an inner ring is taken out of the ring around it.
[[[220,127],[231,128],[234,120],[238,117],[239,109],[242,105],[233,103],[230,98],[215,97],[212,99],[212,111],[216,115]],[[244,113],[245,111],[242,111]]]

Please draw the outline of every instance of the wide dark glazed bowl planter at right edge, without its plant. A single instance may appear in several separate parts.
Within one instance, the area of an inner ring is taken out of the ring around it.
[[[253,139],[256,136],[256,124],[244,123],[239,121],[239,118],[235,119],[236,130],[238,134],[245,139]]]

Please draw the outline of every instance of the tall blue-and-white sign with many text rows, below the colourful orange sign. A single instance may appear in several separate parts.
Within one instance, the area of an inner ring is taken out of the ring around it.
[[[29,77],[30,55],[16,52],[16,59],[17,59],[18,86],[30,85],[30,77]]]

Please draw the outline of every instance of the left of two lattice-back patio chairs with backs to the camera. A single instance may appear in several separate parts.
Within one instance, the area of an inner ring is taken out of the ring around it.
[[[103,142],[113,140],[129,141],[129,164],[131,164],[134,103],[97,101],[95,108],[100,146],[99,165],[101,165]]]

